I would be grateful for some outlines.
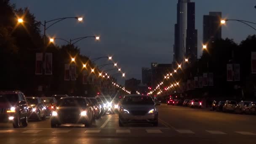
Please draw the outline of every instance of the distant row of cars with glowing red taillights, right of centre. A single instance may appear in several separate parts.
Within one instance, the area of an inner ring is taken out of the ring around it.
[[[167,105],[177,105],[191,108],[202,108],[202,101],[200,99],[169,99]]]

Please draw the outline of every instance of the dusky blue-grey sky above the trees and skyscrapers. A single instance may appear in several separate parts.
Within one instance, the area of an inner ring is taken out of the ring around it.
[[[196,5],[198,53],[201,55],[203,15],[221,11],[227,19],[256,21],[255,0],[192,0]],[[174,24],[178,0],[11,0],[17,8],[28,7],[37,21],[83,16],[84,22],[68,19],[47,30],[47,35],[69,40],[100,35],[101,41],[85,39],[77,43],[81,53],[96,58],[113,56],[125,72],[126,79],[141,80],[141,67],[151,62],[173,60]],[[43,27],[41,27],[43,28]],[[222,38],[240,43],[255,31],[245,24],[228,21],[222,27]],[[65,44],[56,41],[57,45]],[[107,64],[106,59],[97,64]],[[113,72],[116,73],[116,72]],[[119,80],[124,84],[124,80]]]

